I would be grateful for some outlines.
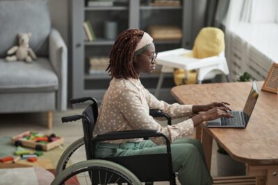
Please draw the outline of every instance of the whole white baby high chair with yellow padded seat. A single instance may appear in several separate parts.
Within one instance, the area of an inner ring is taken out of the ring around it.
[[[156,59],[163,67],[155,96],[161,89],[164,73],[174,71],[176,85],[202,83],[224,73],[229,80],[229,69],[224,56],[224,33],[219,28],[202,28],[195,39],[193,50],[174,49],[158,53]],[[175,70],[174,70],[175,68]],[[194,71],[192,71],[194,70]]]

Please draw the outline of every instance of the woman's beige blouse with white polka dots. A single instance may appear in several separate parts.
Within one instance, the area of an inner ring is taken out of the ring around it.
[[[169,105],[156,99],[141,84],[140,80],[129,78],[111,80],[108,90],[104,94],[99,110],[99,117],[93,135],[123,130],[157,130],[165,134],[170,141],[193,134],[192,119],[175,125],[161,126],[152,116],[149,109],[161,109],[172,118],[193,114],[192,105]],[[165,144],[165,139],[151,138],[154,143]],[[104,141],[108,143],[140,142],[142,139],[124,139]]]

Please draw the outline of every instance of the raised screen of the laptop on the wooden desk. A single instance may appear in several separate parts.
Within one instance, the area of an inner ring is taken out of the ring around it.
[[[245,123],[248,123],[250,116],[253,112],[253,109],[256,105],[256,100],[258,99],[258,97],[259,97],[259,89],[258,86],[256,85],[256,81],[254,81],[250,94],[245,103],[245,107],[243,109],[243,114],[245,116]]]

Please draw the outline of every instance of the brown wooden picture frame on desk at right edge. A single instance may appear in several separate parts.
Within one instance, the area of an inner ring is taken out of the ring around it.
[[[273,63],[270,67],[270,71],[268,71],[268,76],[265,78],[265,82],[263,83],[263,87],[261,88],[263,91],[269,91],[274,94],[278,94],[278,64]]]

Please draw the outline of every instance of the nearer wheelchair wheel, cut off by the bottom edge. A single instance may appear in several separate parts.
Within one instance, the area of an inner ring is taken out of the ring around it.
[[[51,185],[60,184],[141,184],[130,170],[105,160],[81,161],[56,176]]]

